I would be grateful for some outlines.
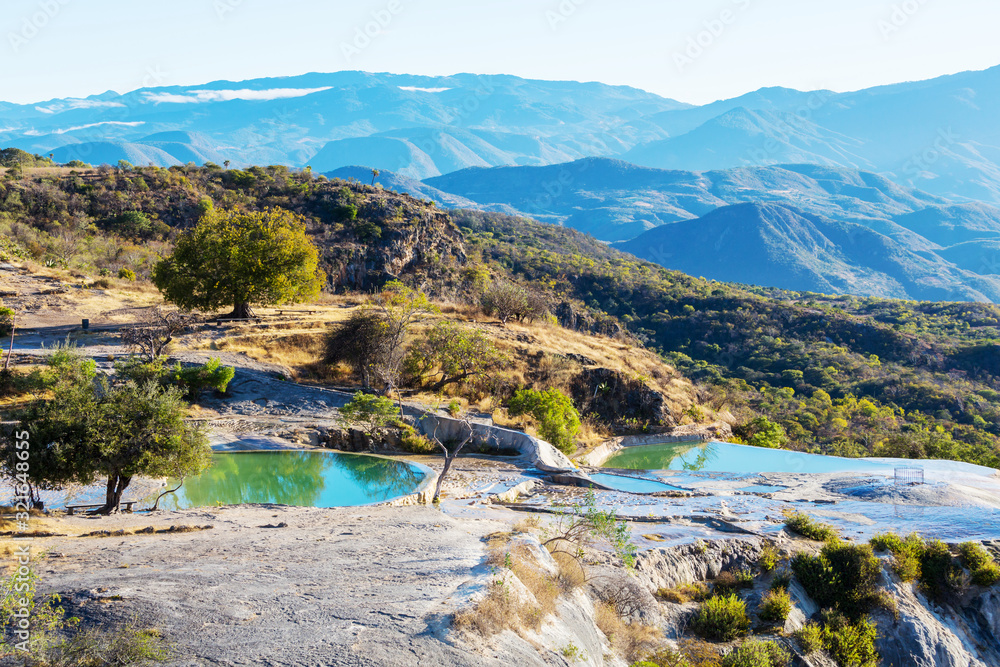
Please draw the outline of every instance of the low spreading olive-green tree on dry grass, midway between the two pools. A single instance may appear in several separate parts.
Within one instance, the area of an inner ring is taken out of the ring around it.
[[[471,327],[439,322],[409,353],[407,366],[421,377],[430,375],[432,391],[464,382],[503,367],[507,355],[490,338]]]

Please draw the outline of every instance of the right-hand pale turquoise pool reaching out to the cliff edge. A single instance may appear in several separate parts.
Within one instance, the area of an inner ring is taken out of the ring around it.
[[[861,472],[892,475],[896,466],[905,464],[923,466],[928,470],[933,469],[939,472],[954,471],[974,474],[996,472],[955,461],[909,461],[904,463],[893,459],[845,459],[784,449],[733,445],[726,442],[627,447],[605,461],[604,467],[685,472]]]

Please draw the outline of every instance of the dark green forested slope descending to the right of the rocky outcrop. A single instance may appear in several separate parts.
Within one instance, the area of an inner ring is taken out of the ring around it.
[[[767,291],[692,278],[579,232],[454,216],[483,261],[614,317],[788,446],[1000,466],[1000,307]]]

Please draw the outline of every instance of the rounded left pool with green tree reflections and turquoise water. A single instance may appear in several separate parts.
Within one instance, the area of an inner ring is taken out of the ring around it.
[[[425,477],[425,469],[416,464],[361,454],[215,453],[211,468],[185,480],[180,491],[160,501],[160,507],[354,507],[409,495]]]

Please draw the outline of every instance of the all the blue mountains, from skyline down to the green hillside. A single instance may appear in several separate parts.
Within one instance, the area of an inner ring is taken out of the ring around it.
[[[708,278],[1000,301],[997,118],[1000,67],[704,106],[599,83],[340,72],[0,103],[0,147],[363,181],[377,168],[442,206],[571,226]]]

